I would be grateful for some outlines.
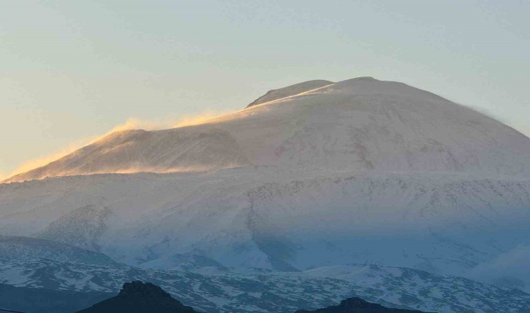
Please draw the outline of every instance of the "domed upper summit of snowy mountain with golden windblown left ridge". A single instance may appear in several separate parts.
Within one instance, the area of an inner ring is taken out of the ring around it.
[[[305,88],[203,125],[111,134],[8,181],[250,164],[530,175],[529,138],[432,93],[361,77],[290,96]]]

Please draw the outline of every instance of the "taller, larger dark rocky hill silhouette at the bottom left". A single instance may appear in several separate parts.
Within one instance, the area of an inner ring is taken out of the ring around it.
[[[123,284],[118,296],[103,300],[77,313],[192,313],[192,307],[183,305],[162,288],[150,282],[135,280]]]

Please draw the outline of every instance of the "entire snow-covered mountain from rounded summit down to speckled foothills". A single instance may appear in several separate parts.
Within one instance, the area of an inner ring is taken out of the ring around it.
[[[0,235],[143,268],[380,264],[530,291],[530,139],[402,83],[301,83],[10,181],[47,176],[0,184]]]

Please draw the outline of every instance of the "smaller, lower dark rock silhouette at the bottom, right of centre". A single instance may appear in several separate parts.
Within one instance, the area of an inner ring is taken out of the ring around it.
[[[427,313],[416,310],[391,309],[377,303],[370,303],[361,298],[347,298],[340,305],[330,306],[315,311],[298,310],[295,313]]]

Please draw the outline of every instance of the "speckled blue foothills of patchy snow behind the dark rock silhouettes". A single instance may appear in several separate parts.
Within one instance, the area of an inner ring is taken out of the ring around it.
[[[359,296],[430,312],[528,312],[530,295],[411,268],[349,265],[303,273],[202,268],[157,270],[50,260],[0,261],[0,282],[16,286],[116,293],[123,282],[159,285],[202,312],[289,312]]]

